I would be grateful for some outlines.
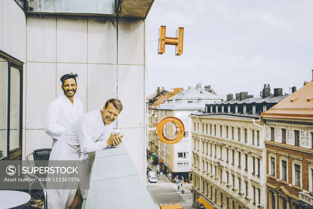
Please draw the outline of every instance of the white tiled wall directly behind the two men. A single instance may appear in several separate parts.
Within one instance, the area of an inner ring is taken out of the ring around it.
[[[27,24],[23,155],[51,147],[52,138],[44,132],[46,109],[62,94],[59,78],[74,72],[79,75],[75,96],[82,100],[85,112],[102,108],[107,99],[131,96],[115,124],[125,130],[126,149],[143,173],[145,22],[120,18],[117,24],[115,18],[41,15],[35,19],[28,15]]]

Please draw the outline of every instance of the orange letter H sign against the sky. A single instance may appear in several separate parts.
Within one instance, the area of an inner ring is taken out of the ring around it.
[[[182,54],[182,43],[184,39],[184,28],[178,28],[176,30],[176,38],[165,37],[166,26],[161,26],[160,36],[159,36],[159,52],[158,54],[163,54],[165,52],[165,44],[176,45],[176,55]]]

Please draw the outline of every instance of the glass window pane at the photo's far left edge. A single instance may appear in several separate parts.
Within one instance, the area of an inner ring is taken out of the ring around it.
[[[8,61],[0,58],[0,156],[7,154]],[[2,151],[2,152],[1,152]],[[1,154],[2,153],[2,154]],[[1,158],[0,158],[1,159]]]

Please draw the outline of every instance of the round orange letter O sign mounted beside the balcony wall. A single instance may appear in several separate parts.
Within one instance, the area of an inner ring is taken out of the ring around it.
[[[166,138],[163,134],[163,128],[166,123],[168,122],[173,122],[176,126],[176,133],[172,138]],[[178,118],[175,117],[165,117],[161,118],[156,122],[156,137],[163,143],[166,144],[176,144],[182,138],[184,137],[185,134],[185,127],[182,121]]]

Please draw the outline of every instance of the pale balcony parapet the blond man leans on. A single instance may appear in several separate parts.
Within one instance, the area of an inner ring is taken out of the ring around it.
[[[123,144],[97,151],[90,173],[90,190],[83,209],[155,208],[142,178]]]

